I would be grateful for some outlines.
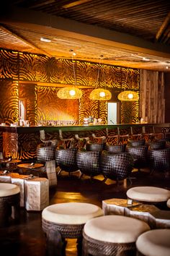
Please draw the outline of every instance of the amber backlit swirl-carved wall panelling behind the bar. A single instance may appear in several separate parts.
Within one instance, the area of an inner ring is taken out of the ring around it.
[[[48,82],[53,86],[53,82],[66,85],[75,85],[73,74],[73,65],[76,71],[77,85],[86,86],[90,88],[102,87],[111,90],[117,95],[121,90],[133,89],[139,90],[139,70],[128,69],[123,67],[113,67],[107,64],[96,64],[88,61],[79,61],[71,59],[55,59],[48,56],[40,56],[35,54],[17,53],[15,51],[1,50],[0,52],[0,78],[6,84],[8,79],[12,78],[16,83],[23,82]],[[99,80],[97,82],[99,72]],[[7,86],[7,85],[6,85]],[[27,88],[27,89],[26,89]],[[55,119],[73,119],[83,122],[84,117],[94,116],[101,117],[104,123],[107,123],[107,108],[104,102],[90,102],[88,95],[91,89],[84,88],[84,96],[80,101],[66,101],[57,98],[55,93],[59,88],[43,88],[40,86],[39,93],[37,87],[30,89],[30,85],[25,85],[25,93],[28,93],[28,116],[32,124],[37,120],[55,120]],[[8,86],[8,90],[11,88]],[[23,90],[21,89],[20,95]],[[41,93],[41,94],[40,94]],[[30,96],[31,95],[31,96]],[[38,99],[36,98],[38,95]],[[47,96],[48,95],[48,96]],[[18,97],[18,95],[17,95]],[[44,98],[47,97],[47,98]],[[3,95],[4,98],[4,95]],[[113,97],[114,98],[114,97]],[[9,122],[17,119],[18,114],[18,98],[14,98],[14,106],[16,106],[14,118],[9,117]],[[114,98],[113,101],[118,101]],[[88,105],[88,107],[87,107]],[[122,121],[129,122],[138,119],[138,103],[131,104],[132,106],[126,108],[122,103]],[[10,106],[10,105],[9,105]],[[125,105],[126,106],[126,105]],[[33,114],[35,108],[35,114]],[[63,113],[63,109],[66,109]],[[6,106],[3,106],[3,111],[6,111]],[[8,111],[11,111],[8,110]],[[36,112],[37,111],[37,112]],[[132,113],[130,113],[132,111]],[[3,113],[4,113],[3,112]],[[8,114],[9,115],[9,114]],[[1,115],[2,116],[2,115]],[[0,116],[0,117],[1,117]],[[6,115],[4,115],[4,119]],[[37,118],[37,119],[36,119]],[[16,120],[17,121],[17,120]]]

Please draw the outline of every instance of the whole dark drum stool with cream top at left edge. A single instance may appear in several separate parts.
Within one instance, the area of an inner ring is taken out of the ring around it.
[[[9,217],[19,221],[20,188],[11,183],[0,183],[0,227],[9,225]]]

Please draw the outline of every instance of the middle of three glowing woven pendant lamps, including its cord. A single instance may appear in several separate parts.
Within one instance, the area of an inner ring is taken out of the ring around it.
[[[100,60],[103,56],[100,56]],[[99,61],[99,69],[97,73],[97,85],[99,83],[99,71],[100,71],[100,61]],[[109,92],[109,90],[103,89],[103,88],[95,88],[91,91],[89,95],[90,100],[93,101],[109,101],[112,98],[112,93]]]

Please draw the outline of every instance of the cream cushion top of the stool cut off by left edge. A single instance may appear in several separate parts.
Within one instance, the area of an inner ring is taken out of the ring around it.
[[[0,183],[0,197],[16,195],[20,192],[19,186],[11,183]]]

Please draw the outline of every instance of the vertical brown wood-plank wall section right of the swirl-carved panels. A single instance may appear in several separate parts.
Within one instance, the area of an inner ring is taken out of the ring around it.
[[[164,123],[164,73],[142,70],[140,81],[140,116],[148,123]]]

